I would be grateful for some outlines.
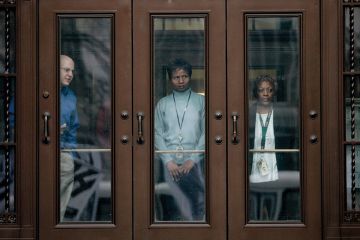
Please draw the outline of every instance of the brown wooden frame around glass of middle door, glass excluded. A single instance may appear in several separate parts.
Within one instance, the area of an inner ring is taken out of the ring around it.
[[[134,145],[134,237],[135,239],[225,239],[226,238],[226,103],[225,103],[225,1],[164,1],[155,0],[151,3],[134,1],[134,86],[142,86],[134,95],[135,114],[144,112],[145,144]],[[176,10],[175,10],[176,9]],[[152,94],[152,55],[151,55],[151,16],[167,14],[208,15],[207,36],[207,93],[213,96],[207,98],[207,222],[204,224],[155,224],[151,216],[151,178],[152,172],[144,169],[152,168],[152,137],[151,128],[153,102]],[[144,41],[145,40],[145,41]],[[142,71],[136,71],[141,69]],[[144,80],[145,79],[145,80]],[[217,79],[224,79],[218,81]],[[142,99],[142,100],[138,100]],[[220,111],[224,114],[222,120],[215,120],[214,114]],[[136,134],[136,133],[134,133]],[[216,145],[215,136],[223,137],[223,144]],[[220,195],[219,193],[223,193]],[[144,204],[146,203],[146,204]]]

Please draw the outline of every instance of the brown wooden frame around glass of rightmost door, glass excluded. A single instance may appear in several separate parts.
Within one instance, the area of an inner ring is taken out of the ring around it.
[[[228,144],[228,212],[229,239],[280,239],[284,234],[294,239],[321,238],[321,106],[320,106],[320,1],[257,1],[245,2],[230,0],[227,4],[227,59],[228,67],[228,110],[240,113],[239,141],[242,144]],[[302,120],[302,174],[301,192],[303,222],[301,224],[249,223],[247,210],[247,156],[246,133],[247,115],[241,106],[246,106],[246,14],[261,15],[302,15],[300,34],[301,44],[301,120]],[[314,34],[318,33],[318,37]],[[240,89],[240,94],[239,94]],[[306,94],[305,94],[306,93]],[[309,112],[315,110],[318,117],[314,120]],[[232,119],[228,119],[231,126]],[[228,129],[228,136],[232,136]],[[310,135],[317,135],[318,142],[310,144]],[[241,156],[239,158],[239,156]],[[240,163],[240,164],[239,164]],[[233,191],[231,189],[239,189]],[[239,230],[241,229],[241,230]]]

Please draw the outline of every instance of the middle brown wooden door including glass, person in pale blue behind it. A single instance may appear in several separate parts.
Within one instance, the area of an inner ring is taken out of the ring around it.
[[[134,119],[144,116],[144,142],[134,146],[134,237],[226,239],[225,1],[133,7]],[[176,80],[169,69],[185,74]],[[174,91],[182,77],[191,90]],[[181,170],[186,160],[195,162],[193,180]]]

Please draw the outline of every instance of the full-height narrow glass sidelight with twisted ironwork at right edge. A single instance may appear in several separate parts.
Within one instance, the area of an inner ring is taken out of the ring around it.
[[[346,159],[346,222],[358,221],[359,211],[359,100],[360,100],[360,8],[344,8],[344,150]],[[350,73],[349,73],[350,72]]]

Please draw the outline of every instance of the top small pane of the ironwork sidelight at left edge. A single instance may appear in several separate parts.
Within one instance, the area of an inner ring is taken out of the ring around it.
[[[8,18],[6,17],[6,10],[0,9],[0,73],[5,72],[6,52],[9,54],[9,73],[15,73],[15,46],[16,46],[16,25],[15,25],[15,8],[9,8]],[[9,29],[9,41],[6,41],[6,29]],[[6,47],[8,46],[8,47]],[[8,49],[8,50],[7,50]]]

